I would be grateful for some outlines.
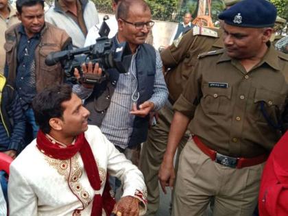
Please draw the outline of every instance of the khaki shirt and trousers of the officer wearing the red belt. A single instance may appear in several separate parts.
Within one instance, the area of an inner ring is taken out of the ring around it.
[[[288,56],[269,48],[245,71],[225,49],[200,55],[174,110],[191,118],[188,129],[206,147],[233,158],[269,154],[287,120]],[[252,215],[264,163],[241,169],[215,163],[192,141],[180,155],[172,215]]]

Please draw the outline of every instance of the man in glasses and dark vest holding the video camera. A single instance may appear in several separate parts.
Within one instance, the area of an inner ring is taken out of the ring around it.
[[[117,17],[119,31],[112,43],[117,47],[128,42],[133,53],[130,69],[127,73],[109,69],[109,80],[95,86],[76,85],[74,91],[86,98],[84,106],[91,112],[89,124],[98,125],[109,141],[138,165],[140,144],[147,138],[149,113],[165,104],[168,91],[160,54],[145,43],[154,25],[147,3],[123,0]],[[101,73],[92,64],[83,69],[84,73]]]

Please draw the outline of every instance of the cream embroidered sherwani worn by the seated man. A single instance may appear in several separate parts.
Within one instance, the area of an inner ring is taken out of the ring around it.
[[[146,211],[146,187],[143,175],[130,160],[106,139],[99,128],[89,125],[85,137],[91,145],[104,191],[106,171],[121,179],[123,196],[139,198]],[[91,215],[95,191],[91,187],[80,153],[69,160],[49,158],[29,144],[10,166],[8,197],[10,215]],[[103,211],[102,215],[106,215]]]

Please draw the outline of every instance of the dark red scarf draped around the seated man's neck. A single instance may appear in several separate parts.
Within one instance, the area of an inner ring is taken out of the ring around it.
[[[38,149],[40,149],[43,154],[59,160],[67,160],[73,157],[77,152],[80,152],[84,163],[84,169],[86,170],[91,187],[95,191],[99,191],[101,189],[97,163],[84,133],[77,136],[74,145],[69,145],[66,148],[61,148],[58,145],[51,143],[51,141],[47,139],[41,130],[38,131],[36,141]],[[115,200],[110,195],[110,185],[108,179],[109,177],[107,173],[103,194],[95,194],[94,196],[91,212],[91,215],[93,216],[101,216],[102,208],[104,208],[106,211],[106,215],[110,215],[112,213]]]

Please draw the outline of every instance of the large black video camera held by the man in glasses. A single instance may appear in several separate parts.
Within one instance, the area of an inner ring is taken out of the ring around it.
[[[128,43],[120,43],[116,49],[112,49],[112,40],[108,38],[110,28],[106,23],[106,18],[99,29],[100,38],[96,39],[95,45],[80,49],[51,52],[45,59],[45,64],[52,66],[61,63],[67,80],[77,82],[74,77],[74,69],[80,71],[80,82],[87,84],[101,83],[109,76],[107,69],[117,69],[119,73],[126,73],[132,60],[132,52]],[[102,69],[101,75],[84,74],[81,66],[83,63],[92,62],[99,64]]]

